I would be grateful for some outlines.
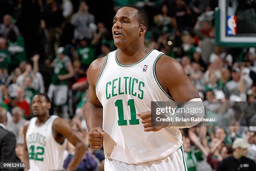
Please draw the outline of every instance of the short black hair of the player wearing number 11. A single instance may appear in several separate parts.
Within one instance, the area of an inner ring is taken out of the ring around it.
[[[136,5],[125,5],[124,7],[130,7],[137,10],[136,18],[138,20],[139,26],[144,26],[148,30],[148,15],[142,8],[136,6]]]

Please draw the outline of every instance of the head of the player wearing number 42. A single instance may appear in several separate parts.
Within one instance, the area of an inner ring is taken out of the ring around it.
[[[50,98],[44,93],[36,94],[32,99],[31,108],[35,116],[48,115],[51,108]]]

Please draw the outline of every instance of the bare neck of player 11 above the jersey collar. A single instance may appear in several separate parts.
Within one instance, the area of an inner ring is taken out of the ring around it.
[[[125,49],[118,48],[118,62],[123,65],[132,65],[141,60],[151,49],[146,46],[128,47]]]

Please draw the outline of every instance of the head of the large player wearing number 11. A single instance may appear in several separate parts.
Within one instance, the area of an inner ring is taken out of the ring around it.
[[[113,39],[118,48],[143,43],[148,29],[146,12],[135,5],[125,5],[113,18]]]

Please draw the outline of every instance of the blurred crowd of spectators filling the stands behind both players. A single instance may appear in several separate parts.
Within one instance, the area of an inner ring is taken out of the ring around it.
[[[206,116],[228,119],[231,102],[250,104],[243,126],[181,130],[188,171],[226,170],[223,163],[230,157],[255,162],[256,49],[215,45],[218,0],[0,0],[0,106],[8,111],[7,129],[15,134],[20,161],[21,130],[33,117],[30,103],[36,93],[47,93],[51,113],[69,121],[89,144],[87,68],[116,49],[113,16],[127,4],[147,12],[145,44],[182,64],[204,101]],[[64,166],[73,154],[69,143]],[[77,171],[103,170],[103,162],[103,150],[89,149]]]

